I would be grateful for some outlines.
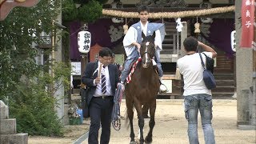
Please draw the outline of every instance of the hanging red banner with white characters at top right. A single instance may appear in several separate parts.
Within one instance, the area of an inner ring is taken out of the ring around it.
[[[242,48],[252,48],[254,40],[254,0],[242,0]]]

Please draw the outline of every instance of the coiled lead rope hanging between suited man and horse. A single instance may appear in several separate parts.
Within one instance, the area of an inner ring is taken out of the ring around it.
[[[120,103],[122,100],[122,94],[122,85],[118,85],[114,95],[114,106],[112,111],[112,126],[114,127],[114,130],[121,129]]]

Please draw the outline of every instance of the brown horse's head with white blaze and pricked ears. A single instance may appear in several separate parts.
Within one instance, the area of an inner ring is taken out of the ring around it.
[[[151,59],[154,57],[155,45],[154,45],[154,37],[155,32],[153,35],[145,36],[142,33],[142,45],[140,48],[140,54],[142,57],[142,67],[147,68],[150,66]]]

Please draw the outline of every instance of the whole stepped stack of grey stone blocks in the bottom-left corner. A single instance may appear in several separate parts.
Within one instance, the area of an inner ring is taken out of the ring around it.
[[[16,119],[9,118],[9,108],[0,100],[0,143],[27,144],[28,134],[17,134]]]

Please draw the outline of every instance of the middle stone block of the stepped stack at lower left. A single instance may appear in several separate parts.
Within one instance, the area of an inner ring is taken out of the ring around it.
[[[16,134],[16,118],[2,119],[0,134]]]

